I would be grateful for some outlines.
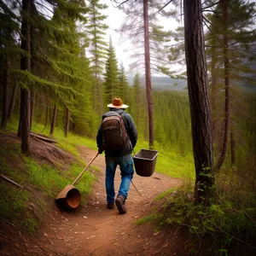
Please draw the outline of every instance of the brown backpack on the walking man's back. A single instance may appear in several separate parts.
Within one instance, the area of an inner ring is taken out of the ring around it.
[[[122,114],[109,111],[110,116],[102,120],[102,140],[104,148],[108,150],[119,150],[125,148],[129,140],[125,129]]]

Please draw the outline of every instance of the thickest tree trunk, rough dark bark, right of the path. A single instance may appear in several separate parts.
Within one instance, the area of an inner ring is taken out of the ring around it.
[[[212,120],[207,86],[201,0],[184,0],[184,28],[195,160],[195,203],[207,205],[213,193],[214,177],[212,174]]]

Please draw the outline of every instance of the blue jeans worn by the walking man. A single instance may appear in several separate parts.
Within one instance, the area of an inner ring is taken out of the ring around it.
[[[110,157],[106,156],[106,192],[108,203],[114,202],[114,174],[116,167],[120,166],[121,171],[121,183],[119,186],[119,194],[124,195],[127,198],[128,191],[130,189],[131,179],[133,177],[133,159],[131,154],[126,154],[122,156]]]

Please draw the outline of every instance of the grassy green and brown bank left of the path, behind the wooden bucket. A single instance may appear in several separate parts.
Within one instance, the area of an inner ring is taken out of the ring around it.
[[[56,195],[84,169],[82,160],[65,166],[66,171],[62,172],[61,165],[53,167],[38,163],[32,157],[21,154],[19,143],[5,143],[0,148],[0,163],[1,173],[24,187],[21,189],[3,178],[0,179],[0,217],[26,232],[38,229],[38,225],[44,221],[49,201],[53,202]],[[93,169],[97,168],[90,166],[90,170]],[[95,180],[96,177],[91,172],[84,172],[76,188],[81,195],[89,195]],[[84,196],[81,201],[81,205],[83,204]]]

